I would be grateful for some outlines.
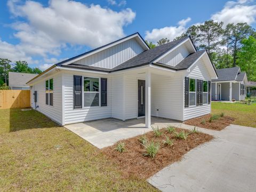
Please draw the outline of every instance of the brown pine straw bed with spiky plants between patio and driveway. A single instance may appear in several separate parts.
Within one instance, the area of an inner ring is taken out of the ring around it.
[[[177,132],[181,130],[184,129],[176,128]],[[146,179],[162,170],[165,166],[180,161],[182,156],[189,150],[213,139],[212,135],[198,132],[189,134],[186,140],[181,140],[175,138],[173,133],[167,133],[165,129],[161,129],[161,131],[163,134],[160,137],[154,137],[153,131],[144,134],[148,141],[161,143],[161,147],[154,159],[142,155],[145,151],[139,142],[141,135],[122,140],[121,142],[125,143],[123,153],[115,150],[117,143],[113,146],[103,148],[102,153],[113,159],[120,166],[124,178],[135,177]],[[184,131],[189,132],[189,130]],[[165,135],[173,140],[172,146],[164,145],[163,140],[166,140]]]

